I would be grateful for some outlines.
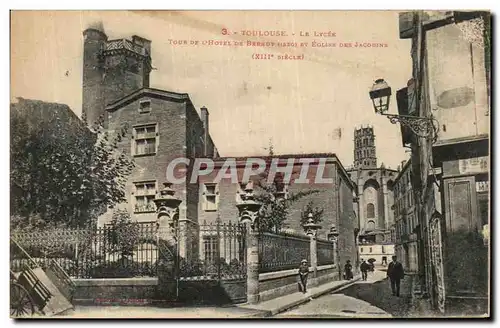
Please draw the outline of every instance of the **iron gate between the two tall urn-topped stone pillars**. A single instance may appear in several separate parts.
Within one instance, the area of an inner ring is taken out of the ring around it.
[[[181,222],[163,235],[161,297],[195,304],[246,302],[246,229],[238,223]],[[166,288],[166,290],[165,290]]]

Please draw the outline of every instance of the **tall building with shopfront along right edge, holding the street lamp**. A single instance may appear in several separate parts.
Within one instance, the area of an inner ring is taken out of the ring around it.
[[[399,112],[434,119],[431,136],[402,134],[412,148],[421,289],[442,313],[488,312],[490,34],[486,12],[400,15],[413,76],[398,91]]]

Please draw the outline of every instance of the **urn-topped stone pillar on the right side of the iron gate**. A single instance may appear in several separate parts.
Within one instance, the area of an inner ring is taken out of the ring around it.
[[[262,204],[256,202],[253,186],[249,183],[241,195],[241,202],[236,204],[240,223],[245,224],[247,239],[247,302],[259,302],[259,239],[258,212]]]

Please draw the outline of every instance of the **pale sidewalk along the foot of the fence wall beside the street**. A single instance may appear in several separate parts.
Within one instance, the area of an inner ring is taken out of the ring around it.
[[[265,316],[274,316],[278,313],[284,312],[298,305],[307,303],[312,299],[322,296],[324,294],[328,294],[330,292],[338,291],[345,287],[348,287],[360,279],[361,275],[357,275],[354,277],[354,279],[349,281],[347,280],[333,281],[327,284],[312,287],[306,294],[296,292],[290,295],[274,298],[269,301],[260,302],[257,304],[242,304],[239,305],[238,307],[243,309],[262,311],[263,313],[266,314]]]

